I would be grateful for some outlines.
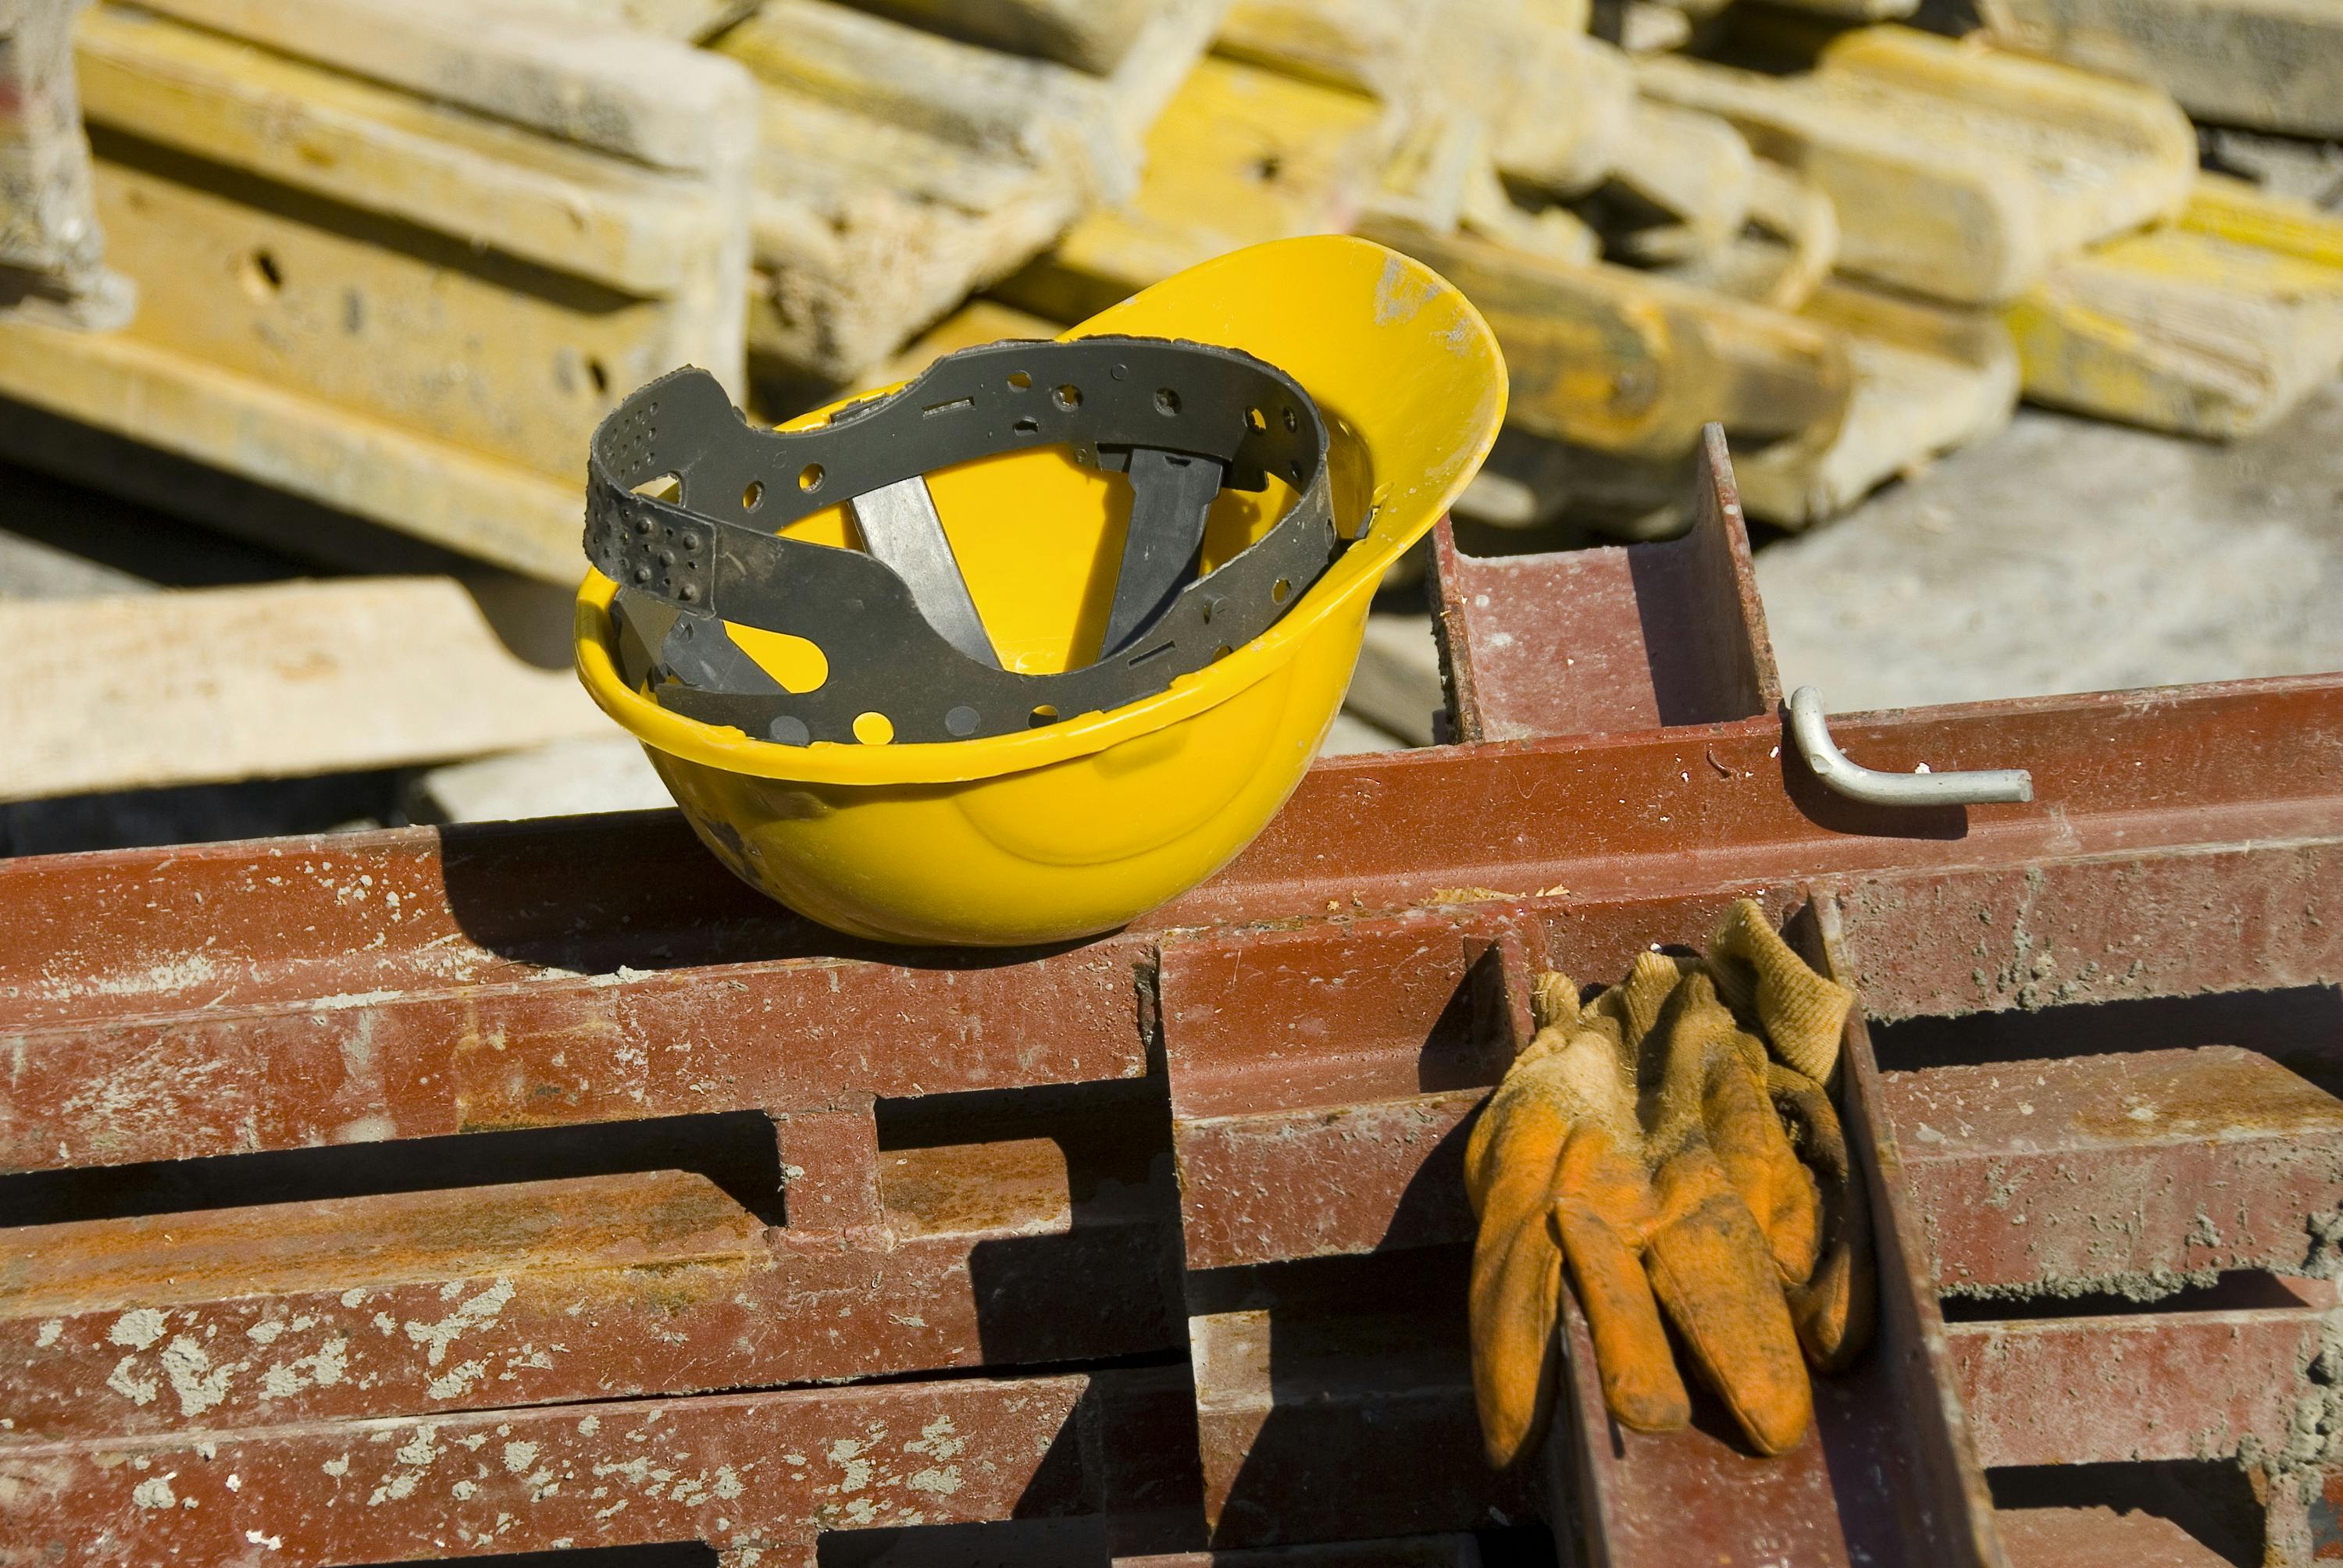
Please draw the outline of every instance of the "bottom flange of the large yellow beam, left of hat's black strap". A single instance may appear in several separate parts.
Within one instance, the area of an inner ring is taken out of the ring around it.
[[[558,483],[136,338],[0,323],[0,396],[478,560],[565,586],[579,579],[576,480]],[[108,471],[91,466],[75,478],[105,485]]]

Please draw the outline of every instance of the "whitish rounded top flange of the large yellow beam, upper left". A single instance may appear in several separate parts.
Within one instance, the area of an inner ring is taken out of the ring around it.
[[[738,169],[754,94],[731,63],[628,28],[469,0],[159,0],[166,12],[656,169]]]

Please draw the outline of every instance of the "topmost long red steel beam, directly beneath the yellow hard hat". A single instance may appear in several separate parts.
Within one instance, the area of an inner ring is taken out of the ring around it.
[[[2338,729],[2331,677],[1837,720],[1874,766],[2034,771],[2034,806],[1921,813],[1825,795],[1771,717],[1331,762],[1155,919],[2303,839],[2334,827],[2343,764],[2320,736]],[[1143,1069],[1146,933],[879,961],[747,898],[658,813],[0,865],[0,1048],[21,1064],[0,1167]]]

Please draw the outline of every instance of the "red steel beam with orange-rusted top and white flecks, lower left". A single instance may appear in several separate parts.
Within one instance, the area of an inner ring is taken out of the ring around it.
[[[865,1235],[686,1172],[0,1230],[0,1409],[63,1439],[1169,1350],[1169,1179],[1122,1174],[1075,1205],[1052,1139],[883,1151]]]

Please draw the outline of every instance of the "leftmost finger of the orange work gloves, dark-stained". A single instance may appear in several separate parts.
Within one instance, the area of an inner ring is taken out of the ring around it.
[[[1546,1420],[1560,1291],[1563,1249],[1544,1207],[1507,1230],[1481,1226],[1467,1301],[1471,1392],[1481,1411],[1481,1446],[1497,1470],[1521,1458]]]

